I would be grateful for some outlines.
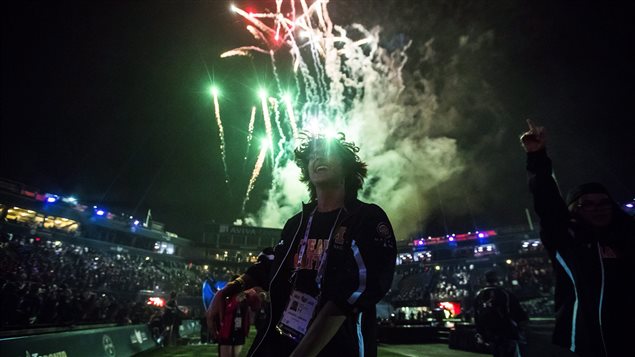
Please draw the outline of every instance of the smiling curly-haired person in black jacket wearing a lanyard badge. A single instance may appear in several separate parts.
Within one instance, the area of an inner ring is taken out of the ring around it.
[[[357,199],[366,176],[358,148],[306,134],[295,151],[310,202],[287,221],[270,268],[250,267],[208,310],[216,333],[225,299],[260,286],[269,320],[248,356],[376,356],[375,305],[391,286],[396,244],[386,213]]]

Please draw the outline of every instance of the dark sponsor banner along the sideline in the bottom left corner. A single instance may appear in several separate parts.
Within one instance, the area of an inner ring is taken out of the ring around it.
[[[132,356],[156,346],[146,325],[0,339],[3,357]]]

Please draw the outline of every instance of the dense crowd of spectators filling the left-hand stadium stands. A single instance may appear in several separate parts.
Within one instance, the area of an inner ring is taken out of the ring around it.
[[[212,269],[217,279],[233,274]],[[0,329],[146,323],[156,308],[140,291],[200,297],[209,274],[192,264],[3,233]]]

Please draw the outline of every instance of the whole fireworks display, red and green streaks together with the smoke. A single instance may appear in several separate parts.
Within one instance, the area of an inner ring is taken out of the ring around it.
[[[394,214],[396,227],[416,229],[421,212],[417,205],[404,202],[447,179],[460,170],[461,163],[453,139],[427,136],[426,123],[438,108],[434,93],[414,87],[405,90],[401,71],[410,42],[389,52],[379,45],[378,28],[333,24],[327,0],[300,0],[298,8],[296,2],[276,0],[275,12],[231,8],[245,20],[257,44],[229,50],[221,57],[269,56],[275,77],[272,87],[277,89],[260,93],[267,145],[261,147],[249,180],[243,213],[269,149],[272,182],[266,202],[259,212],[242,217],[244,222],[280,227],[298,210],[298,202],[307,198],[292,160],[299,132],[344,132],[347,140],[360,146],[369,164],[372,189],[362,192],[362,198]],[[290,57],[291,68],[278,68],[281,56]],[[292,92],[283,90],[286,87],[278,76],[282,70],[293,74]],[[419,88],[429,86],[419,84]],[[254,113],[252,109],[248,142]]]

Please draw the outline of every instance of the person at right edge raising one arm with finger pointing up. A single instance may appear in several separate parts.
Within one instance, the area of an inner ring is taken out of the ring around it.
[[[623,356],[633,338],[624,310],[633,302],[635,222],[599,183],[582,184],[563,200],[545,130],[527,122],[520,140],[540,237],[556,275],[553,342],[580,356]]]

